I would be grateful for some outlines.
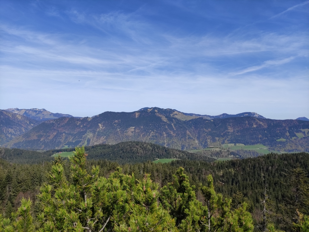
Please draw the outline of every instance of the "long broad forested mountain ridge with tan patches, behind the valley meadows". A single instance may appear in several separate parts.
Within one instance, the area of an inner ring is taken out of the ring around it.
[[[285,151],[309,149],[307,121],[183,117],[191,116],[182,116],[170,109],[151,108],[131,113],[104,112],[91,118],[58,118],[41,123],[5,146],[47,150],[65,145],[143,141],[181,150],[224,143],[264,144]]]

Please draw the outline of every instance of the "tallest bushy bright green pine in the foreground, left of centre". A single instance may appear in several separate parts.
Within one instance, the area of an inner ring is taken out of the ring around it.
[[[103,231],[112,229],[127,218],[128,202],[125,175],[118,168],[108,179],[99,177],[99,167],[87,173],[84,147],[75,148],[71,165],[72,184],[56,159],[49,175],[50,183],[41,187],[38,196],[43,213],[38,218],[40,231]]]

